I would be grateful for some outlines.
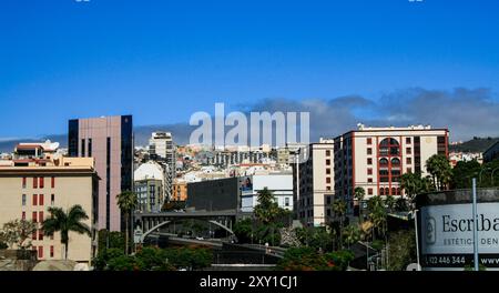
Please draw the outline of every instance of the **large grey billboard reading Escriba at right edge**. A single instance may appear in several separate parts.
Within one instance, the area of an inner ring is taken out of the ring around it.
[[[426,269],[462,269],[472,265],[473,225],[478,231],[479,263],[499,270],[499,203],[428,205],[420,214],[420,264]]]

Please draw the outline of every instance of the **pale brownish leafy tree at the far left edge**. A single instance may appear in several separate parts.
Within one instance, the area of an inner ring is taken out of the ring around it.
[[[37,231],[37,224],[27,220],[13,220],[3,224],[0,231],[0,243],[3,242],[10,249],[24,250],[31,246],[31,235]]]

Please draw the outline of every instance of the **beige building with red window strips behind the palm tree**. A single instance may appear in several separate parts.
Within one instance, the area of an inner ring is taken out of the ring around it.
[[[96,253],[99,176],[92,158],[64,158],[41,144],[20,144],[11,160],[0,162],[0,226],[16,219],[32,220],[32,249],[39,260],[64,259],[60,233],[43,235],[41,222],[50,206],[68,210],[80,204],[92,235],[69,233],[70,260],[89,263]]]

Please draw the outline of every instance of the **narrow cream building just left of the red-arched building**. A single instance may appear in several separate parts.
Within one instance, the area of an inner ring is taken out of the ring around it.
[[[332,216],[334,198],[334,141],[320,139],[302,148],[302,152],[306,160],[298,168],[293,164],[294,210],[304,225],[325,225]]]

